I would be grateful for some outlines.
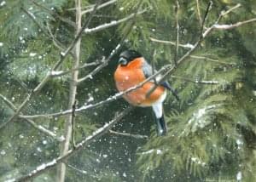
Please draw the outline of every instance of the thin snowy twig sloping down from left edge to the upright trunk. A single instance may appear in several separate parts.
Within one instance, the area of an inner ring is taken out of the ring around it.
[[[15,105],[8,100],[6,97],[4,97],[2,94],[0,94],[0,98],[3,100],[3,102],[9,106],[9,108],[11,108],[13,111],[16,111],[17,108],[15,107]],[[22,114],[22,113],[21,113]],[[43,134],[46,134],[47,136],[56,139],[57,141],[63,141],[64,138],[63,137],[57,137],[57,135],[55,133],[53,133],[52,131],[49,131],[49,129],[44,128],[41,125],[36,124],[35,122],[33,122],[31,119],[27,119],[24,118],[24,120],[29,123],[30,125],[32,125],[33,128],[38,129],[38,131],[42,132]]]

